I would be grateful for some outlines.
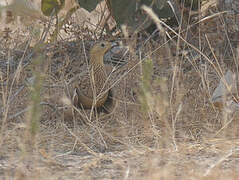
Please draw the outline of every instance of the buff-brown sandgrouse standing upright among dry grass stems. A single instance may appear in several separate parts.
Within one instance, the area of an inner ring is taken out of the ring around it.
[[[96,43],[90,50],[89,64],[86,71],[77,74],[68,83],[68,91],[74,106],[91,109],[92,107],[104,112],[111,112],[113,92],[110,89],[103,63],[104,54],[113,47],[107,41]]]

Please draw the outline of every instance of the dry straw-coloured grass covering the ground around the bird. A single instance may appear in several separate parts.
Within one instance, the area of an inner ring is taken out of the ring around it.
[[[69,116],[62,102],[65,81],[86,68],[91,32],[74,27],[40,48],[27,28],[0,37],[0,179],[237,179],[238,113],[210,101],[224,72],[238,74],[238,17],[220,12],[194,15],[187,40],[165,26],[125,40],[107,116]]]

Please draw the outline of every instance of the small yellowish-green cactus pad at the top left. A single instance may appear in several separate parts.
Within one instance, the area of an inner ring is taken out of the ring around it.
[[[65,0],[41,0],[41,11],[45,16],[51,16],[58,14],[64,5]]]

